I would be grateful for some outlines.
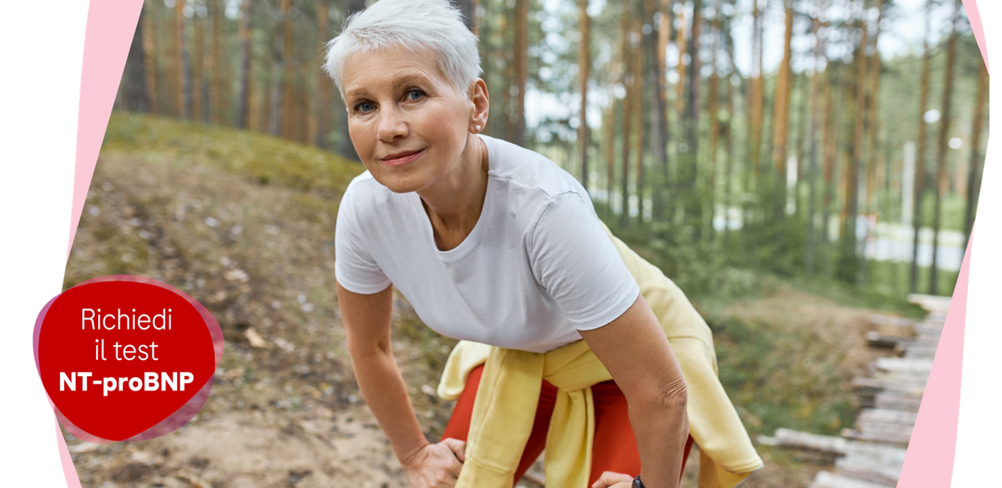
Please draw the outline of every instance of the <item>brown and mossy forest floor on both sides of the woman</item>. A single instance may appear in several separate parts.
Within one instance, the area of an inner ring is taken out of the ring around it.
[[[208,401],[172,433],[89,444],[64,431],[82,486],[408,487],[354,381],[334,290],[338,199],[361,165],[267,136],[128,117],[112,116],[64,286],[122,273],[177,286],[219,321],[224,352]],[[781,426],[851,427],[849,380],[878,355],[866,347],[873,310],[783,282],[760,288],[703,310],[753,439]],[[452,404],[434,389],[454,341],[403,297],[396,304],[394,354],[437,441]],[[805,487],[834,461],[757,448],[766,468],[742,487]],[[695,487],[697,465],[693,449],[683,486]]]

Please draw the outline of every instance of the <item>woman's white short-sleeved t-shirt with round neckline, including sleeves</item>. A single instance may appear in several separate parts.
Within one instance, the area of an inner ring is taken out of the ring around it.
[[[584,188],[539,153],[480,136],[487,194],[480,218],[449,251],[435,244],[416,193],[367,171],[338,210],[335,276],[362,294],[393,283],[436,332],[546,352],[626,311],[640,292]]]

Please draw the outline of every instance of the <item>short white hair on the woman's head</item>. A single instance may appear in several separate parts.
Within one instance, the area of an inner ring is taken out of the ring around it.
[[[448,0],[379,0],[345,19],[341,34],[327,43],[324,70],[343,98],[345,60],[388,47],[437,53],[439,68],[460,92],[483,73],[477,36]]]

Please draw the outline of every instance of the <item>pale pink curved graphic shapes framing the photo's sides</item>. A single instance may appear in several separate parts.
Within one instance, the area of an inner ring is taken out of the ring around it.
[[[963,2],[982,58],[988,66],[985,29],[977,2],[975,0],[963,0]],[[76,161],[66,246],[67,259],[141,8],[142,0],[90,0],[89,3],[84,31],[83,63],[80,70]],[[971,242],[973,241],[972,232]],[[898,482],[898,486],[902,488],[945,487],[950,486],[953,478],[960,412],[960,378],[963,368],[970,255],[971,245],[968,244],[957,286],[954,289],[950,312],[936,351],[926,394]],[[66,441],[54,416],[53,424],[67,488],[81,488]]]

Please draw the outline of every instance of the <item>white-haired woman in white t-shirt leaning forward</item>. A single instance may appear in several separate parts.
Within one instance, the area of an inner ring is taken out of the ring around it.
[[[479,135],[489,98],[459,12],[381,0],[346,21],[325,68],[368,170],[338,212],[339,304],[359,388],[412,484],[511,486],[545,439],[555,486],[677,486],[688,395],[665,328],[577,181]],[[492,346],[450,358],[461,391],[436,444],[391,353],[393,285],[432,329]]]

